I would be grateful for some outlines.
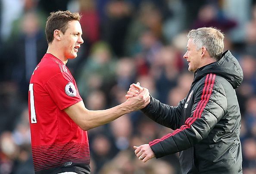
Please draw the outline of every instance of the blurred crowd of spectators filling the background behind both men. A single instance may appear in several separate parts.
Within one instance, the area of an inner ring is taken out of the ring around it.
[[[56,10],[83,15],[84,44],[67,66],[91,110],[124,102],[135,82],[177,105],[194,78],[182,58],[188,30],[222,30],[225,50],[244,71],[236,90],[243,173],[256,173],[256,0],[0,0],[0,174],[34,173],[28,84],[47,50],[46,18]],[[179,174],[178,153],[143,163],[133,149],[172,131],[141,111],[89,130],[92,174]]]

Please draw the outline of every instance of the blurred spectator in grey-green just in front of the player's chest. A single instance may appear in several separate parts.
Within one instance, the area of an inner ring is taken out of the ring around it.
[[[78,74],[78,89],[81,96],[87,96],[92,90],[109,90],[113,84],[116,60],[109,44],[97,42],[91,48],[91,54]]]

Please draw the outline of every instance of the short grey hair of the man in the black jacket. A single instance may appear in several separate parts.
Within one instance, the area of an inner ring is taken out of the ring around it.
[[[224,34],[212,27],[203,27],[190,30],[187,34],[188,39],[192,39],[197,45],[197,51],[205,47],[210,57],[220,60],[224,49]]]

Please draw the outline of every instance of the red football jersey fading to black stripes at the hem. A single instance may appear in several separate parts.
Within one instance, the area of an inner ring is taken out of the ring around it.
[[[44,55],[31,76],[28,98],[35,172],[90,173],[87,131],[63,111],[82,99],[61,60]]]

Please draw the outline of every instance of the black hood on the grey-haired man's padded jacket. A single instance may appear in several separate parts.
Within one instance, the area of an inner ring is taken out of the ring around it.
[[[209,73],[222,76],[232,85],[234,89],[240,86],[244,78],[243,70],[240,64],[229,50],[222,54],[222,58],[219,61],[211,63],[205,66],[203,69],[198,69],[192,84],[199,81]]]

